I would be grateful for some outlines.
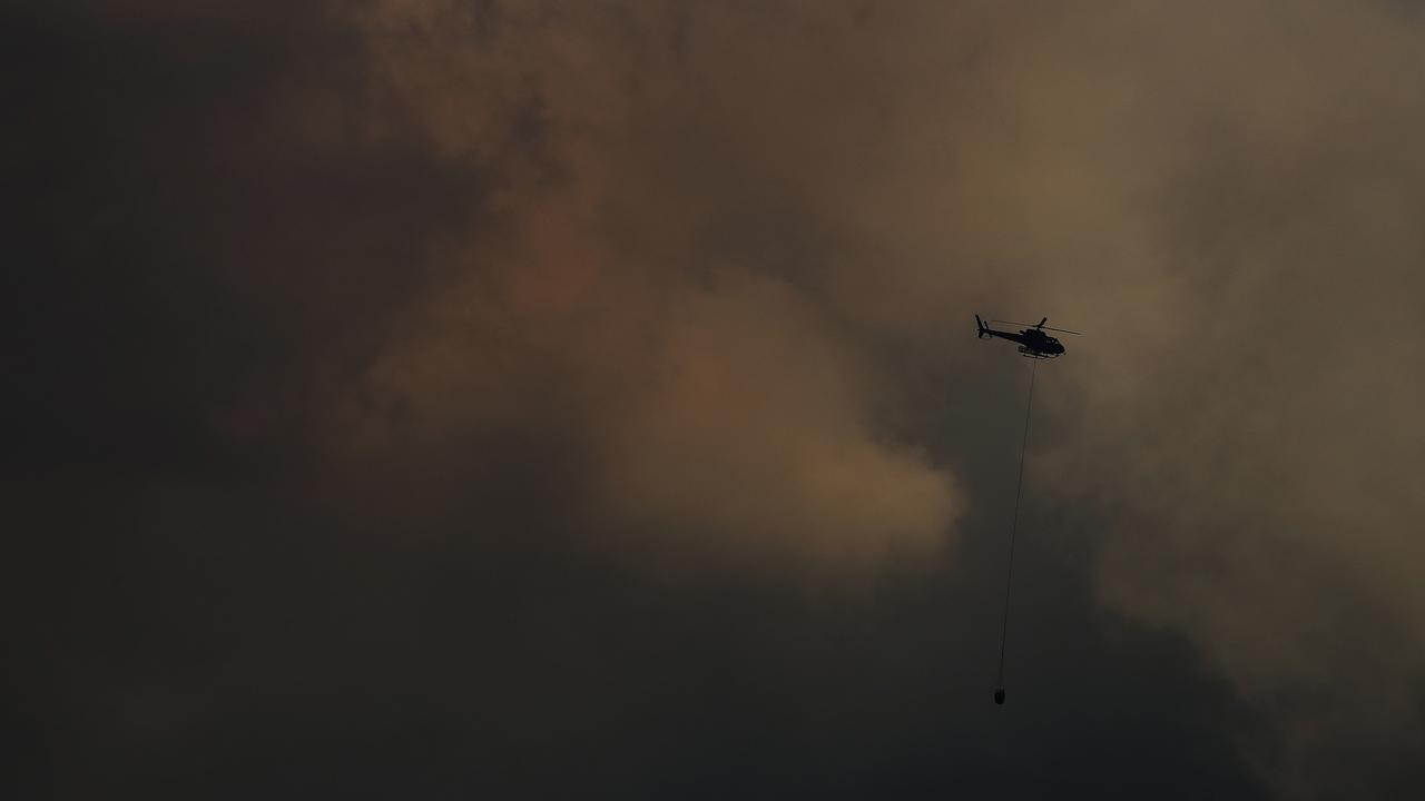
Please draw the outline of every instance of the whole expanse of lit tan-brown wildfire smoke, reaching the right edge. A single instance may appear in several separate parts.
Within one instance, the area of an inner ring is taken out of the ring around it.
[[[1419,731],[1408,10],[517,7],[476,14],[480,37],[462,14],[375,14],[423,41],[385,53],[393,86],[436,87],[447,151],[502,103],[482,81],[527,87],[598,198],[583,222],[633,225],[597,234],[593,269],[640,285],[624,298],[663,286],[658,314],[633,304],[647,369],[604,396],[628,406],[601,489],[630,520],[727,547],[784,529],[811,554],[933,540],[949,483],[878,438],[868,392],[885,412],[906,385],[858,359],[972,304],[1053,311],[1093,336],[1054,365],[1039,465],[1107,509],[1103,600],[1187,633],[1282,721],[1253,751],[1268,770]],[[580,272],[510,281],[589,308],[569,294],[607,278],[556,261]]]

